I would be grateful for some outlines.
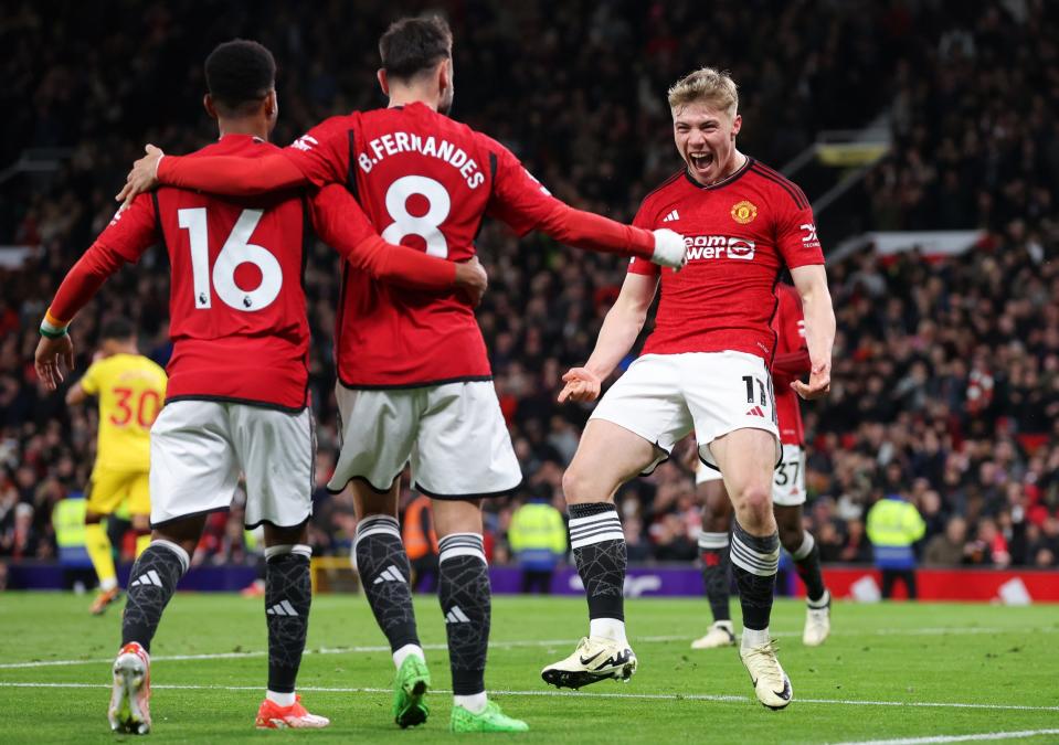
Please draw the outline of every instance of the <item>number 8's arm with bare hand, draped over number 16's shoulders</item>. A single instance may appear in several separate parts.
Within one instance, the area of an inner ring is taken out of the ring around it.
[[[115,198],[128,202],[159,185],[208,191],[212,194],[250,196],[309,183],[289,158],[275,152],[263,158],[167,156],[153,145],[133,163],[125,188]]]

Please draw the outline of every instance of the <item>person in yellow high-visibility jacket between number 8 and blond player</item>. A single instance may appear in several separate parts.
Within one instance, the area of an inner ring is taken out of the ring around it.
[[[547,488],[534,490],[511,515],[508,542],[522,570],[522,593],[551,594],[555,568],[566,555],[566,525],[562,513],[550,504]]]

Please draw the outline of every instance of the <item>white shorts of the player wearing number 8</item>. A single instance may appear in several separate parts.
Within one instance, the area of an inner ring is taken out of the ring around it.
[[[414,389],[336,386],[342,450],[327,488],[357,479],[390,489],[405,464],[434,499],[499,497],[522,482],[493,381]]]

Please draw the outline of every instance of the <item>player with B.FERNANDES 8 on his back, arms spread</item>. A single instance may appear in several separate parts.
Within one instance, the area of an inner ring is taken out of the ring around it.
[[[389,108],[332,117],[284,156],[254,162],[159,161],[160,151],[151,150],[118,199],[153,185],[156,171],[162,183],[237,194],[342,183],[384,238],[435,256],[474,256],[475,235],[490,214],[520,235],[536,228],[582,248],[682,265],[685,245],[676,233],[653,234],[573,210],[507,148],[445,116],[454,88],[452,32],[442,19],[398,21],[379,47]],[[451,726],[526,730],[485,692],[491,598],[480,500],[518,487],[521,472],[474,313],[451,300],[347,276],[337,348],[346,432],[329,487],[353,485],[357,566],[396,668],[394,720],[401,726],[424,722],[430,684],[396,520],[398,477],[411,460],[415,488],[435,500],[438,596],[454,691]]]

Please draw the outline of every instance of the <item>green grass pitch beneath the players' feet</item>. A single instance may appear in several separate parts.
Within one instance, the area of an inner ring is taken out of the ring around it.
[[[106,724],[119,613],[113,608],[105,617],[92,617],[89,599],[0,595],[0,666],[78,661],[0,667],[4,743],[123,739]],[[416,610],[423,642],[442,645],[445,629],[436,600],[419,598]],[[544,687],[539,672],[573,650],[587,626],[584,602],[497,598],[486,680],[505,712],[530,723],[531,732],[518,736],[527,743],[819,743],[1059,728],[1055,606],[836,604],[835,634],[824,647],[806,649],[799,637],[804,606],[780,602],[772,630],[780,637],[780,659],[795,693],[795,702],[783,712],[770,712],[751,700],[735,650],[689,648],[705,631],[708,614],[702,600],[629,600],[626,616],[639,672],[628,684],[604,681],[579,693],[558,694]],[[299,679],[306,704],[329,716],[331,727],[256,732],[253,717],[263,696],[265,639],[262,600],[178,595],[152,649],[159,659],[151,670],[151,741],[427,743],[453,737],[446,732],[447,694],[432,695],[433,715],[426,725],[402,732],[389,721],[389,694],[363,690],[389,689],[393,666],[364,598],[339,595],[319,596],[314,603],[311,653]],[[225,652],[234,654],[165,659]],[[444,649],[428,649],[427,660],[436,688],[448,689]],[[853,703],[866,701],[894,705]],[[1059,742],[1059,735],[1034,742],[1045,741]]]

